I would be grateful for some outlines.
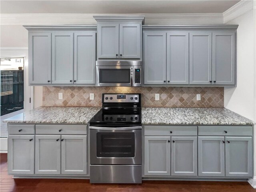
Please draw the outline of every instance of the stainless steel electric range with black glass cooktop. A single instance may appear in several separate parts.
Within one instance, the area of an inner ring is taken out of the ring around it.
[[[90,182],[141,183],[140,94],[102,94],[90,121]]]

